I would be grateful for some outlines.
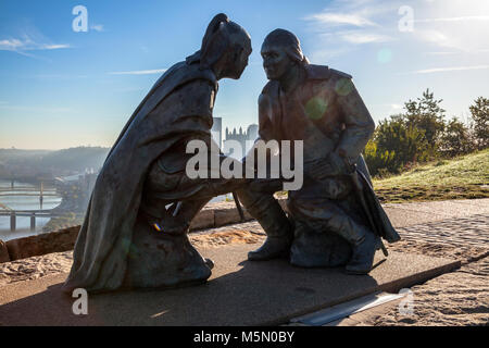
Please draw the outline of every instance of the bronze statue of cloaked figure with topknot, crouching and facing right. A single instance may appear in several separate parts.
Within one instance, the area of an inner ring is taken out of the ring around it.
[[[186,146],[200,139],[212,149],[217,80],[239,78],[250,53],[249,34],[218,14],[201,49],[154,84],[98,176],[65,291],[164,288],[209,278],[212,261],[190,245],[189,224],[212,197],[243,179],[189,178],[185,169],[192,154]]]

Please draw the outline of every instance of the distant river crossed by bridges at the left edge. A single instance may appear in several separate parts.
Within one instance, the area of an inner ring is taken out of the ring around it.
[[[10,188],[11,182],[0,179],[0,188]],[[35,187],[33,184],[14,182],[14,189],[9,191],[9,194],[14,195],[16,187]],[[43,189],[52,190],[53,187],[43,186]],[[5,192],[2,191],[2,195]],[[11,210],[39,210],[41,209],[39,203],[39,196],[0,196],[0,203],[7,206]],[[47,196],[42,199],[42,209],[53,209],[61,203],[61,197],[58,196]],[[4,209],[0,206],[0,210]],[[0,216],[0,239],[3,241],[27,237],[32,235],[37,235],[42,233],[42,226],[48,223],[49,217],[38,217],[36,219],[36,231],[30,231],[30,217],[17,217],[16,220],[16,231],[10,231],[10,216]]]

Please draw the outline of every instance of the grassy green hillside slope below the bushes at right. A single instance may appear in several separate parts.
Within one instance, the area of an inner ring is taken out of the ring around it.
[[[489,198],[489,149],[374,179],[383,202]]]

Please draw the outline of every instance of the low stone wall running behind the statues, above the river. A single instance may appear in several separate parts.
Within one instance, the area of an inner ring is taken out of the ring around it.
[[[285,209],[285,199],[279,200]],[[244,210],[244,219],[253,217]],[[218,202],[205,206],[192,220],[190,229],[221,227],[240,222],[235,202]],[[37,236],[12,239],[7,243],[0,240],[0,263],[42,256],[51,252],[73,250],[80,226],[72,226],[57,232]]]

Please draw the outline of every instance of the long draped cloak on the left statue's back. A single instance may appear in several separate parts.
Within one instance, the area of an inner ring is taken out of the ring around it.
[[[147,173],[183,137],[209,135],[213,100],[196,107],[192,96],[184,96],[178,112],[171,117],[151,112],[178,88],[202,80],[210,84],[215,97],[218,86],[212,71],[200,70],[198,63],[175,64],[156,82],[125,125],[97,178],[75,244],[72,270],[63,286],[65,291],[78,287],[111,290],[122,285]],[[208,110],[210,124],[196,117],[199,109]]]

